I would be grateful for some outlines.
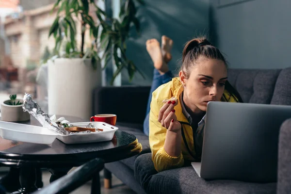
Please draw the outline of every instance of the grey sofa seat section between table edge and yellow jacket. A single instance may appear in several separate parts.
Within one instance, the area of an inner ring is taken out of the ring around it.
[[[149,147],[149,141],[148,136],[143,132],[143,125],[141,124],[132,124],[132,123],[117,123],[116,126],[119,128],[119,130],[123,130],[125,132],[131,133],[135,135],[135,137],[138,139],[139,143],[142,144],[143,149],[140,154],[149,153],[150,147]],[[121,160],[124,164],[129,166],[133,170],[134,168],[134,161],[135,159],[140,155],[135,155],[133,157]]]

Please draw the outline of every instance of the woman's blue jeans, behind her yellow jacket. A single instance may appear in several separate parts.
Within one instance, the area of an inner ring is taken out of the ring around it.
[[[171,71],[161,75],[157,69],[154,69],[154,78],[150,88],[150,93],[147,101],[146,108],[146,118],[144,121],[144,133],[148,136],[149,134],[149,111],[150,111],[150,102],[152,99],[152,93],[162,84],[167,83],[173,79],[173,74]]]

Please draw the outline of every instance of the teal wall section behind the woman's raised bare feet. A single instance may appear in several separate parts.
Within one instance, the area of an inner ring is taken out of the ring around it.
[[[146,40],[156,38],[161,42],[162,35],[174,40],[173,59],[170,69],[176,70],[181,58],[183,45],[196,35],[209,31],[210,0],[145,0],[146,6],[139,7],[141,35],[134,35],[128,41],[127,54],[145,74],[144,80],[138,73],[132,83],[127,72],[122,73],[122,84],[150,85],[153,63],[146,51]]]

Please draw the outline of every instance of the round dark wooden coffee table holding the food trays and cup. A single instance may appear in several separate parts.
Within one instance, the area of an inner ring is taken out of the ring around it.
[[[59,117],[61,115],[57,115],[57,118]],[[85,122],[77,117],[65,116],[65,118],[70,122]],[[31,117],[31,121],[22,123],[40,126],[34,117]],[[80,166],[94,158],[114,162],[140,152],[136,137],[121,130],[115,132],[112,141],[74,145],[66,145],[58,139],[51,145],[42,145],[5,140],[0,137],[0,165],[20,169],[22,189],[19,193],[32,193],[37,190],[35,169],[49,169],[52,182],[65,176],[72,167]]]

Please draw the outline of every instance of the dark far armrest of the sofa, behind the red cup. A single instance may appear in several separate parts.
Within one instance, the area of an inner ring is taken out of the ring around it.
[[[93,92],[93,113],[116,114],[117,122],[142,124],[150,86],[99,87]]]

